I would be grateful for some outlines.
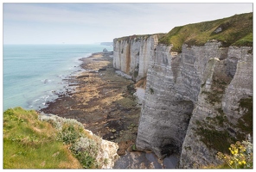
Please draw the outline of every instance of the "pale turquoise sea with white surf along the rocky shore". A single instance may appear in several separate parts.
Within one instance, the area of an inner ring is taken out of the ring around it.
[[[65,78],[77,75],[80,58],[111,46],[3,45],[3,111],[10,107],[39,110],[67,89]]]

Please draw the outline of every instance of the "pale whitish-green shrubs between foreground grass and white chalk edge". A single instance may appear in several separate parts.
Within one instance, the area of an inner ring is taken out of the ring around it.
[[[57,140],[68,144],[69,150],[72,151],[83,168],[100,168],[96,161],[100,138],[85,132],[84,126],[77,120],[64,119],[55,115],[41,115],[40,119],[47,120],[58,130]]]

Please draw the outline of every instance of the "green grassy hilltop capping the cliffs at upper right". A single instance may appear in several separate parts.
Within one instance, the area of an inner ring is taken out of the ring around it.
[[[182,52],[184,43],[203,46],[208,40],[221,41],[225,47],[253,46],[253,13],[176,27],[160,38],[159,43],[172,44],[172,51]]]

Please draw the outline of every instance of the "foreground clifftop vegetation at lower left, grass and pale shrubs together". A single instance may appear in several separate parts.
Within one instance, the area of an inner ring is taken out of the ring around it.
[[[94,169],[101,138],[77,120],[38,115],[22,107],[3,113],[4,169]],[[76,157],[76,158],[75,158]]]

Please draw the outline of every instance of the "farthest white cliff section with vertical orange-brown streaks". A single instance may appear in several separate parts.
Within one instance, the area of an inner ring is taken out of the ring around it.
[[[131,75],[138,81],[146,77],[150,58],[154,56],[157,35],[149,38],[131,37],[124,40],[115,39],[113,43],[113,67]]]

